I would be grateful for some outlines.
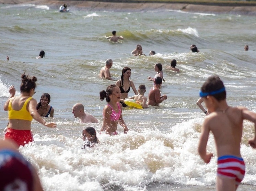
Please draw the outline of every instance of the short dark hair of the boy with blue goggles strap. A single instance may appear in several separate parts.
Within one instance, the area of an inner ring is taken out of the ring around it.
[[[214,91],[220,90],[223,87],[224,87],[224,84],[218,76],[210,76],[206,80],[206,82],[203,83],[201,87],[201,92],[202,93],[214,92]],[[226,99],[226,91],[223,91],[221,93],[217,93],[211,96],[213,96],[218,101],[224,100]]]

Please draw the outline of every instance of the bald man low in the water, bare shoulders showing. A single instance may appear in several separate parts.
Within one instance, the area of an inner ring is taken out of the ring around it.
[[[84,112],[84,106],[77,103],[72,107],[72,113],[75,118],[79,118],[81,123],[98,123],[98,120],[93,115]]]

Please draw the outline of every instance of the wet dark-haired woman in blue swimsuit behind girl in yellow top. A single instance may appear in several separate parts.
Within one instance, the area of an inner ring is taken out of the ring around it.
[[[49,105],[51,96],[47,93],[42,94],[40,101],[36,105],[36,110],[40,116],[48,118],[49,115],[53,118],[54,108]]]

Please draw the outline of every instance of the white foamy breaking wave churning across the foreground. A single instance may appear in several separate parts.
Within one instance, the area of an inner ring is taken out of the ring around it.
[[[197,118],[171,126],[165,132],[156,127],[153,130],[144,127],[140,132],[130,130],[126,135],[120,128],[116,136],[97,134],[101,143],[85,149],[81,149],[81,135],[70,138],[35,134],[35,142],[21,147],[20,151],[38,169],[45,190],[146,191],[156,187],[163,187],[163,190],[165,187],[185,190],[193,186],[213,187],[216,150],[210,135],[208,151],[214,156],[209,164],[200,159],[197,143],[201,123],[202,119]],[[69,125],[74,124],[61,126],[69,129]],[[251,131],[252,124],[245,126],[246,137],[241,147],[246,163],[243,183],[253,185],[256,151],[245,145],[245,140],[251,137],[247,131]]]

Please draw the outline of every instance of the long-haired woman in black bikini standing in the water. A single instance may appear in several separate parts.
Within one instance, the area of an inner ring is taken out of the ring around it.
[[[125,98],[128,97],[130,87],[132,88],[133,92],[136,95],[138,94],[134,83],[131,80],[129,80],[130,76],[131,76],[131,69],[128,68],[128,67],[124,67],[123,70],[122,70],[121,79],[116,81],[116,85],[118,87],[120,87],[120,90],[121,90],[121,93],[122,93],[120,103],[122,104],[123,107],[126,107],[127,105],[122,102],[122,99],[124,100]]]

